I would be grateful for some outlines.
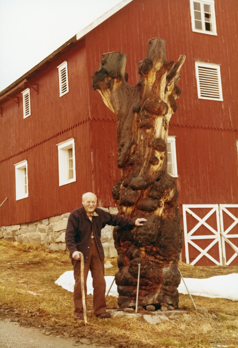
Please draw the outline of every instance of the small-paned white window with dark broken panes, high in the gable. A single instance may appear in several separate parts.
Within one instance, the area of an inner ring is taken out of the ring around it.
[[[190,0],[192,31],[217,35],[214,0]]]

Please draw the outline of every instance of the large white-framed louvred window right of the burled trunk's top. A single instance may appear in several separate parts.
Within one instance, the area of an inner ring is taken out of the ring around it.
[[[198,98],[223,101],[220,65],[195,62],[195,69]]]

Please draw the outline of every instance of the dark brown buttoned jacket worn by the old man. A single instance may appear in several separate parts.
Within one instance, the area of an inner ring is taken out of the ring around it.
[[[111,226],[134,226],[135,220],[122,215],[114,215],[96,208],[98,216],[92,216],[92,222],[89,220],[84,206],[73,210],[68,218],[68,224],[65,233],[65,242],[70,252],[69,257],[72,259],[74,251],[83,253],[84,261],[88,261],[89,248],[91,243],[91,233],[95,237],[100,259],[104,259],[104,251],[101,244],[101,229],[107,225]]]

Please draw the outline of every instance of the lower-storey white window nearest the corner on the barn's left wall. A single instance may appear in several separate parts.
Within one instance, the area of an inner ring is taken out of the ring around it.
[[[74,138],[57,144],[59,159],[59,186],[76,181]]]

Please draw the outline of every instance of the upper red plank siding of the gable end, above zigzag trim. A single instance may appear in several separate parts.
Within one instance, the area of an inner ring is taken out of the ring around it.
[[[175,125],[238,130],[238,2],[215,1],[218,35],[192,32],[189,0],[134,0],[85,35],[88,79],[98,71],[102,53],[120,51],[127,55],[128,83],[139,80],[138,62],[146,57],[147,41],[166,40],[168,60],[186,55],[179,86],[182,96],[171,122]],[[198,99],[195,61],[221,65],[223,102]],[[89,89],[90,117],[113,118],[100,95]],[[232,122],[232,127],[231,127]]]

